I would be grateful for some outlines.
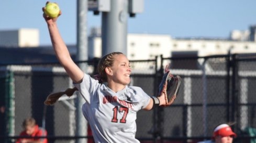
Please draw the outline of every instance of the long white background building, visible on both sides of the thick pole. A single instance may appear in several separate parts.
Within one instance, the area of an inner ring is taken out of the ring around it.
[[[101,37],[95,37],[94,56],[101,57]],[[170,35],[128,34],[127,57],[130,60],[171,57],[174,51],[198,51],[198,56],[256,53],[256,42],[232,40],[175,39]]]

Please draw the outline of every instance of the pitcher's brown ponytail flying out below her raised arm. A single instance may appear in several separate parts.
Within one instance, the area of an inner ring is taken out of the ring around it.
[[[76,87],[74,88],[68,88],[64,92],[58,92],[58,93],[51,93],[50,95],[47,96],[46,100],[44,101],[45,105],[53,105],[57,100],[62,96],[66,95],[68,97],[71,97],[74,92],[78,90]]]

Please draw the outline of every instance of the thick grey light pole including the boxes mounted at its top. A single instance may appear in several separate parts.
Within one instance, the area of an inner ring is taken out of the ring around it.
[[[144,0],[89,0],[88,9],[102,12],[102,55],[127,54],[127,19],[143,11]]]

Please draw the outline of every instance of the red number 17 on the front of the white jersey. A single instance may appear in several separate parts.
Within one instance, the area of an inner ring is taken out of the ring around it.
[[[114,113],[113,113],[113,118],[111,121],[117,123],[118,122],[118,119],[117,119],[118,106],[113,108],[113,111],[114,111]],[[128,111],[129,111],[129,109],[126,107],[119,107],[119,112],[124,113],[123,117],[120,120],[120,123],[126,123],[126,117],[127,117]]]

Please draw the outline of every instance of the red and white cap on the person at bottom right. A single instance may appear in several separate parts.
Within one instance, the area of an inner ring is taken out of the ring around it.
[[[216,136],[221,136],[221,137],[233,136],[233,137],[237,137],[237,134],[232,131],[231,127],[228,124],[221,124],[221,125],[218,125],[214,129],[213,138],[215,138]]]

